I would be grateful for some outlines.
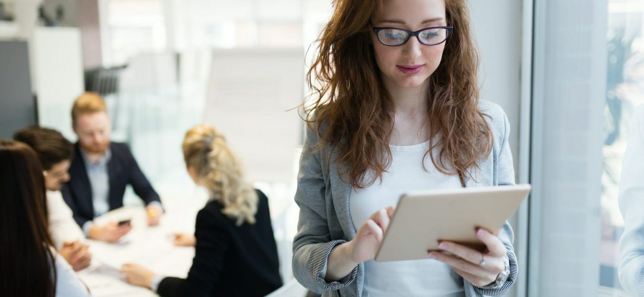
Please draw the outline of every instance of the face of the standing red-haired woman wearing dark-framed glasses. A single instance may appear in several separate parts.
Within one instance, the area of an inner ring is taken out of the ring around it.
[[[447,26],[445,0],[383,0],[383,16],[374,26],[410,31]],[[445,48],[445,42],[426,46],[413,36],[400,46],[386,46],[373,31],[371,35],[376,63],[391,86],[421,86],[439,66]]]

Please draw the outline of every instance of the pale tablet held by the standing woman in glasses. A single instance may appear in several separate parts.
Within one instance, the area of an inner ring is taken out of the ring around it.
[[[426,259],[448,240],[484,250],[476,228],[497,232],[527,197],[530,185],[409,192],[398,201],[375,260]]]

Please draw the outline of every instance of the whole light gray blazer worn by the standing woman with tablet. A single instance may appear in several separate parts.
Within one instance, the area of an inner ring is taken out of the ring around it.
[[[473,172],[474,179],[466,185],[498,186],[514,185],[515,172],[507,139],[509,122],[506,113],[497,104],[480,100],[478,108],[489,117],[488,124],[493,131],[494,144],[488,158],[480,161],[479,169]],[[349,193],[352,186],[341,181],[335,155],[330,147],[311,154],[317,143],[315,130],[307,129],[303,153],[299,159],[298,190],[295,201],[299,206],[298,233],[293,240],[293,273],[304,287],[323,296],[361,296],[365,268],[359,264],[352,273],[339,282],[325,282],[319,277],[327,266],[328,255],[337,244],[355,236],[349,212]],[[466,296],[500,296],[515,283],[518,267],[513,249],[514,233],[506,222],[498,235],[505,244],[509,260],[510,275],[506,282],[496,289],[475,287],[463,280]]]

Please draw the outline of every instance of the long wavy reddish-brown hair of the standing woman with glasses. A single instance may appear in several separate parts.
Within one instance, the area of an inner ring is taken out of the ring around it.
[[[492,149],[492,132],[478,109],[478,52],[470,32],[465,0],[446,0],[453,33],[443,59],[428,78],[430,135],[440,135],[426,153],[443,174],[459,176],[462,186],[478,160]],[[392,161],[393,102],[384,89],[371,43],[381,1],[336,0],[335,10],[321,33],[316,59],[308,70],[312,104],[304,105],[307,126],[317,125],[319,151],[337,149],[338,163],[348,165],[341,177],[356,188],[372,185]],[[322,127],[325,131],[322,132]],[[437,156],[433,149],[440,148]],[[368,171],[373,178],[364,181]]]

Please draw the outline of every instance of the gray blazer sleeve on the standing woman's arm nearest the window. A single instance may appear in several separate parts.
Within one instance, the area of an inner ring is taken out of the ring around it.
[[[515,185],[515,167],[508,142],[510,136],[510,123],[509,120],[507,120],[506,113],[501,109],[501,107],[498,107],[497,105],[497,109],[498,116],[493,118],[493,120],[503,118],[503,124],[500,125],[500,129],[498,129],[500,131],[498,134],[502,135],[502,138],[497,140],[498,138],[495,137],[495,140],[500,142],[500,149],[498,150],[494,161],[495,180],[497,181],[498,186]],[[518,264],[516,262],[515,249],[513,247],[515,235],[512,231],[512,227],[507,221],[499,231],[498,239],[503,242],[504,246],[506,246],[506,257],[507,262],[509,263],[510,273],[507,276],[506,281],[497,287],[474,287],[478,293],[486,296],[501,296],[506,294],[510,287],[515,284],[516,277],[518,276]]]

